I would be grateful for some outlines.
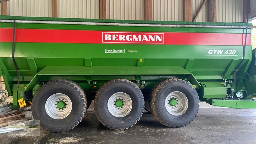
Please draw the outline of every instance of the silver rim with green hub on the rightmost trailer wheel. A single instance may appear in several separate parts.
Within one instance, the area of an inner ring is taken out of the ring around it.
[[[188,99],[182,92],[172,92],[165,99],[165,108],[170,114],[180,116],[188,109]]]

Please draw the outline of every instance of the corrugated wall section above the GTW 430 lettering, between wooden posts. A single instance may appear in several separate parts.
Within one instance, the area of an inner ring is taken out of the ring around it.
[[[242,0],[216,0],[217,22],[243,22]]]

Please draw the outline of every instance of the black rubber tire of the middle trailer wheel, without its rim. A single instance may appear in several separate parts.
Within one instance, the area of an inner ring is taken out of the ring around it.
[[[116,117],[108,110],[108,100],[117,92],[126,93],[132,100],[131,111],[123,117]],[[101,86],[94,99],[94,110],[101,124],[110,129],[124,130],[140,120],[144,110],[144,98],[139,87],[131,81],[115,79]]]

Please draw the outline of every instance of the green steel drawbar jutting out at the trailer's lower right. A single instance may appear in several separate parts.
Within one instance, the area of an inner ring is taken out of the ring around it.
[[[256,108],[256,100],[212,100],[211,105],[228,108]]]

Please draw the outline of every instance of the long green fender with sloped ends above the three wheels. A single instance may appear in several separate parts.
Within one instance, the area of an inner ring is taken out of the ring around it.
[[[84,76],[85,80],[90,82],[97,79],[97,76],[118,76],[124,77],[134,76],[138,78],[138,81],[142,76],[177,76],[182,75],[184,78],[188,78],[189,82],[193,85],[200,85],[195,77],[188,72],[186,69],[178,66],[145,66],[145,67],[127,67],[119,66],[116,69],[115,66],[94,66],[94,67],[83,67],[83,66],[47,66],[36,74],[36,76],[30,81],[24,91],[29,91],[45,76]],[[117,77],[116,77],[117,78]],[[84,80],[84,79],[80,79]]]

